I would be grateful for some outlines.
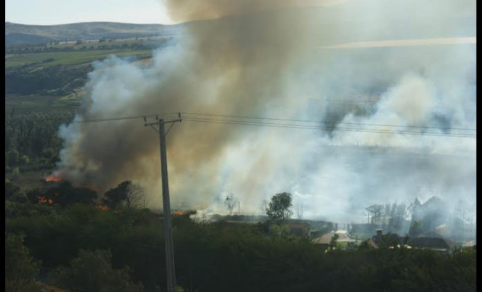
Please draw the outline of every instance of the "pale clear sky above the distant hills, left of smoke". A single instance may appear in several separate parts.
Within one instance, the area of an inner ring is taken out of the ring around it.
[[[41,25],[87,21],[172,23],[161,0],[6,0],[5,21]]]

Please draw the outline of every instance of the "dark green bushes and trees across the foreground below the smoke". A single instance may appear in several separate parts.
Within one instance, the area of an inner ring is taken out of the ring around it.
[[[93,190],[53,177],[41,189],[26,190],[9,179],[5,186],[6,291],[41,291],[46,285],[66,291],[162,291],[166,286],[162,215],[143,206],[134,183],[124,181],[100,199]],[[224,203],[229,216],[174,212],[179,291],[475,289],[476,246],[440,253],[391,236],[407,222],[408,235],[416,237],[443,221],[427,211],[440,203],[436,198],[425,204],[416,200],[410,209],[418,217],[411,222],[404,219],[404,204],[366,208],[369,223],[348,228],[352,236],[368,237],[356,244],[337,242],[337,224],[302,220],[299,210],[299,219],[290,219],[287,192],[265,202],[267,217],[257,223],[232,215],[239,208],[234,194]],[[375,237],[377,228],[389,234]],[[328,244],[314,244],[314,237],[330,232]]]

